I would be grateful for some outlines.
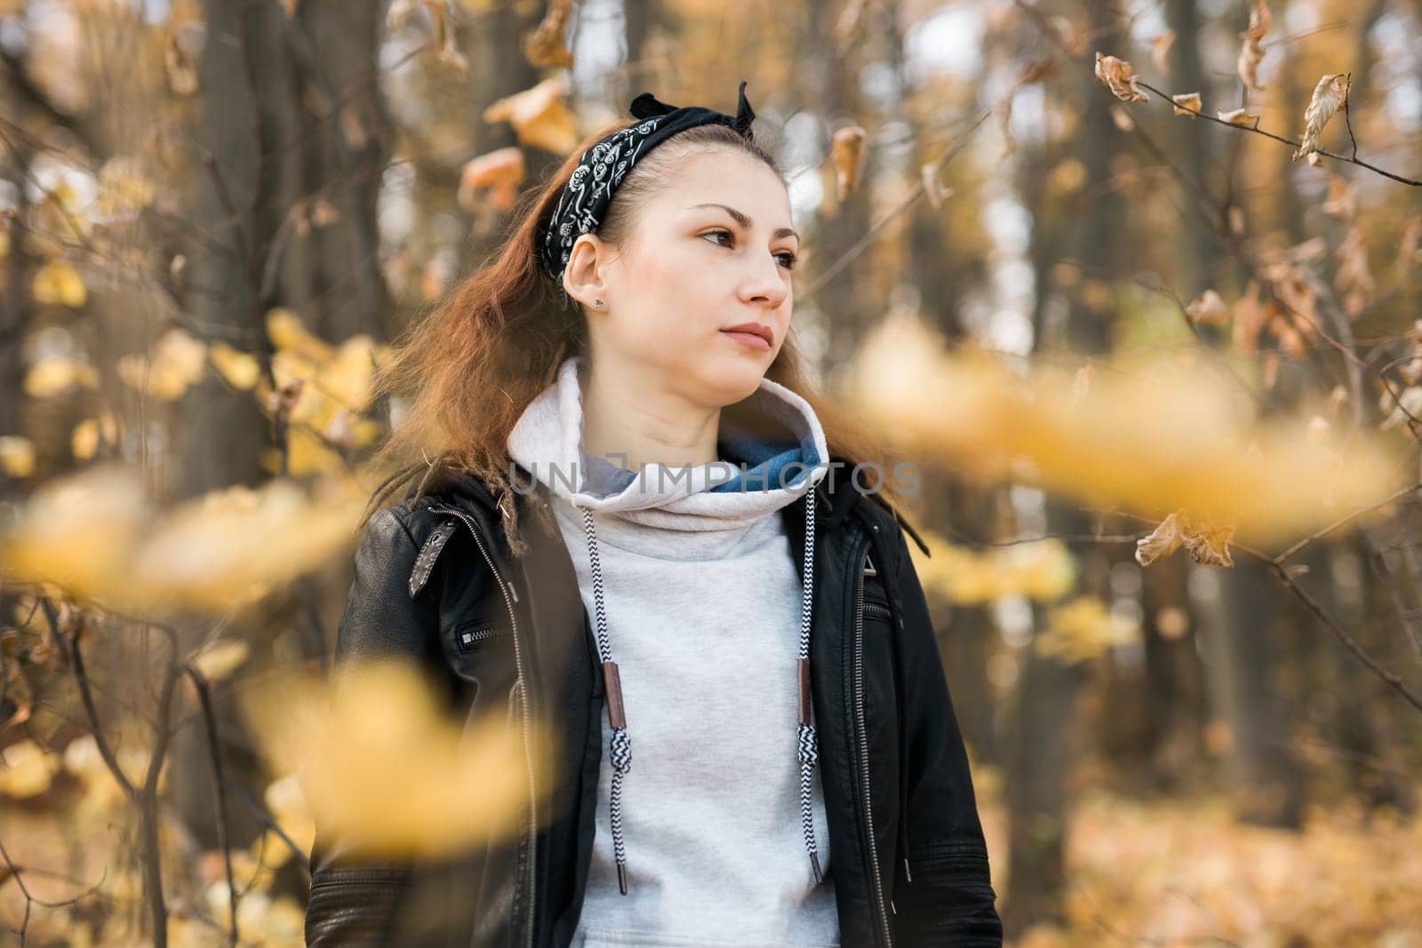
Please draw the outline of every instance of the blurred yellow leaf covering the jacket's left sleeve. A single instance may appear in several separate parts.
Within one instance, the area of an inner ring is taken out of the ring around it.
[[[243,692],[253,733],[279,772],[300,773],[323,840],[343,854],[449,854],[518,829],[530,765],[549,786],[518,722],[458,719],[410,665],[346,665],[330,689],[309,678],[267,688]]]

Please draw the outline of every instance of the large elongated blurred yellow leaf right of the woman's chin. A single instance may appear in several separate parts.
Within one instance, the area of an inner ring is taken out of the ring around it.
[[[1074,392],[1069,368],[948,355],[900,313],[860,344],[855,395],[870,421],[964,473],[1150,517],[1189,507],[1237,524],[1241,539],[1307,534],[1402,486],[1399,448],[1365,432],[1315,441],[1305,421],[1258,418],[1254,397],[1212,358],[1200,348],[1119,357]]]

